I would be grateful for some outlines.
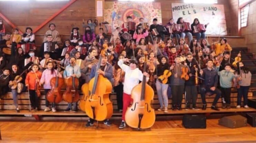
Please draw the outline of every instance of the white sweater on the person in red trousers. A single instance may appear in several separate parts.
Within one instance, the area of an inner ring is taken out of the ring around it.
[[[123,60],[119,60],[117,64],[125,71],[124,93],[130,95],[133,87],[138,85],[139,81],[143,80],[143,73],[138,68],[131,70],[129,66],[124,64]],[[147,77],[146,80],[148,79]]]

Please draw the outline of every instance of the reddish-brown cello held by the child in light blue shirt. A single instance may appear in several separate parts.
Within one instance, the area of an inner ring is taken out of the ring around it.
[[[74,65],[75,63],[71,63],[73,70],[72,73],[75,74],[74,72]],[[77,102],[79,100],[79,92],[77,90],[77,87],[79,85],[78,78],[76,77],[68,77],[65,79],[66,82],[66,91],[63,94],[63,100],[68,102],[68,103],[73,103]]]

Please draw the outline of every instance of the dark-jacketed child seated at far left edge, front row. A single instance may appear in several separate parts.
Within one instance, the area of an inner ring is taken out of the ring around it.
[[[3,98],[9,88],[8,83],[10,81],[10,69],[4,68],[0,73],[0,100]]]

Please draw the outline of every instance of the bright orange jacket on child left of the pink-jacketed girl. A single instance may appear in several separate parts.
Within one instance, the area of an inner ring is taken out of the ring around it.
[[[40,82],[40,78],[42,77],[42,72],[36,71],[36,74],[39,79],[38,82]],[[28,84],[29,90],[35,90],[36,88],[36,80],[37,80],[36,74],[33,71],[30,71],[29,73],[27,73],[25,84],[26,85]]]

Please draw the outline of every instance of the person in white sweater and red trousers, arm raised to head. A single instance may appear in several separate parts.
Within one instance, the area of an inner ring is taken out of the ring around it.
[[[127,66],[124,62],[130,62],[130,65]],[[147,72],[141,72],[137,67],[137,62],[135,60],[130,60],[128,58],[120,59],[118,61],[118,66],[121,67],[123,71],[125,71],[125,80],[124,80],[124,93],[123,93],[123,113],[122,113],[122,122],[119,126],[120,129],[126,127],[125,123],[125,113],[130,106],[131,102],[131,91],[133,87],[139,84],[139,81],[143,80],[143,76],[146,76],[146,81],[149,79],[149,75]]]

